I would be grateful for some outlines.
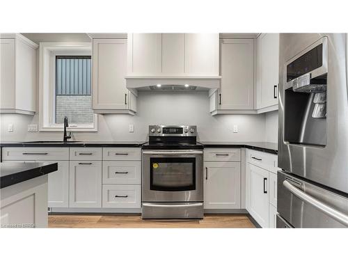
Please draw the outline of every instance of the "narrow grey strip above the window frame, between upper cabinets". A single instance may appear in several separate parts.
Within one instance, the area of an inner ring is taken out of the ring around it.
[[[26,38],[40,42],[90,42],[87,33],[22,33]]]

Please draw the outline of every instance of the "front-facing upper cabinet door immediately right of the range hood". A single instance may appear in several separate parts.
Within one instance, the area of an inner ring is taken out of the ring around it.
[[[254,40],[222,39],[220,109],[254,109],[253,97]]]

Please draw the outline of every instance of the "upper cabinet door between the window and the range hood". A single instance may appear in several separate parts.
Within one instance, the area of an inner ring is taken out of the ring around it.
[[[127,39],[93,39],[93,109],[128,109]]]

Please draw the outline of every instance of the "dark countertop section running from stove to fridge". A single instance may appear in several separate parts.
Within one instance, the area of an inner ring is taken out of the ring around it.
[[[204,148],[249,148],[278,155],[278,143],[255,142],[229,142],[229,141],[200,141]]]

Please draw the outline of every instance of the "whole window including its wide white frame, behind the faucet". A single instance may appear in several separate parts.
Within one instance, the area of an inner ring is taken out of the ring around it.
[[[39,129],[97,132],[90,42],[40,42]]]

